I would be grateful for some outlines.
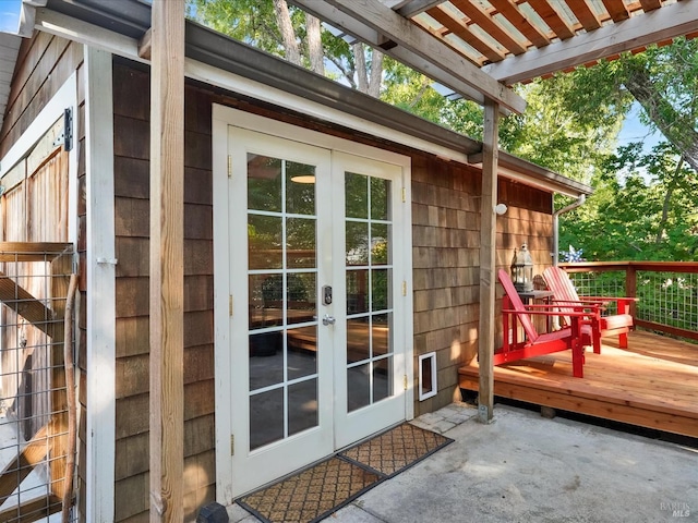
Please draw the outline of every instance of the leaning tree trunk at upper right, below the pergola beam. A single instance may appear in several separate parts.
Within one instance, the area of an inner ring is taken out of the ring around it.
[[[693,120],[677,112],[662,97],[643,68],[633,68],[628,72],[625,86],[642,106],[657,129],[678,149],[686,163],[698,171],[698,132]]]

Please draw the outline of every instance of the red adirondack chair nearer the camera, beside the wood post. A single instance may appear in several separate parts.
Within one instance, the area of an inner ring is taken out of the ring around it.
[[[552,332],[539,333],[533,326],[531,316],[561,316],[556,307],[551,305],[524,305],[509,275],[500,269],[500,283],[505,295],[502,302],[502,323],[504,327],[504,344],[494,354],[494,365],[514,362],[525,357],[540,356],[552,352],[571,350],[573,375],[583,377],[585,352],[583,345],[591,344],[591,326],[585,319],[599,315],[599,307],[574,307],[564,313],[569,316],[569,325]],[[518,340],[518,324],[524,328],[524,340]],[[509,331],[509,329],[512,329]],[[510,339],[509,339],[510,338]]]

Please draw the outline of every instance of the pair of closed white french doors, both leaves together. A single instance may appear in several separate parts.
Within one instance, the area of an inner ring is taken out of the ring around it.
[[[411,340],[402,168],[234,126],[227,139],[216,350],[230,351],[238,496],[405,419]]]

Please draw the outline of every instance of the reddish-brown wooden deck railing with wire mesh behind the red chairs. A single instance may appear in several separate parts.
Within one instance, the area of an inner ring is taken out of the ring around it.
[[[579,295],[631,296],[630,313],[646,329],[698,341],[697,262],[561,264]]]

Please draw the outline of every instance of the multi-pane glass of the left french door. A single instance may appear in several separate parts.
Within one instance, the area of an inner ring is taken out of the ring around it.
[[[317,426],[315,167],[248,154],[250,450]]]

